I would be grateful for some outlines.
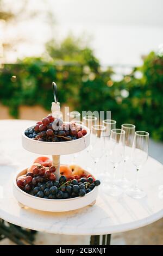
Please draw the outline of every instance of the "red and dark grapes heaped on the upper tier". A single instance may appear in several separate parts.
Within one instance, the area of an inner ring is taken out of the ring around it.
[[[82,138],[86,133],[82,126],[73,122],[64,124],[61,119],[52,117],[52,114],[24,132],[28,138],[42,142],[73,141]]]

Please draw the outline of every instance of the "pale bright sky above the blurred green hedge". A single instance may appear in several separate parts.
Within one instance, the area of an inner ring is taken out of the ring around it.
[[[14,3],[17,8],[21,0]],[[27,39],[16,47],[11,61],[40,56],[52,36],[61,40],[70,32],[89,41],[102,65],[140,65],[142,55],[163,43],[162,0],[29,0],[27,13],[34,10],[40,10],[39,18],[22,20],[8,33],[0,26],[1,40],[14,35]],[[52,13],[51,26],[46,10]]]

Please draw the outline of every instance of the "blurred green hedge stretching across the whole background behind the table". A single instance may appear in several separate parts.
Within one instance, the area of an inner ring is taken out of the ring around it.
[[[56,81],[61,104],[78,111],[111,111],[117,127],[132,123],[163,141],[163,57],[151,52],[140,68],[116,82],[114,71],[103,71],[90,48],[73,47],[70,38],[61,45],[51,41],[47,49],[52,60],[25,58],[0,69],[0,101],[10,114],[18,118],[20,105],[51,109]]]

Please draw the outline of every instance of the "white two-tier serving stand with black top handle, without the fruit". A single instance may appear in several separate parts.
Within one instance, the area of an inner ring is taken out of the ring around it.
[[[59,117],[60,114],[60,103],[57,101],[57,87],[54,86],[54,102],[52,102],[52,115],[53,117]],[[55,176],[57,180],[60,177],[60,155],[67,155],[78,153],[79,151],[84,150],[90,144],[90,130],[86,126],[82,126],[83,129],[87,131],[87,134],[82,138],[66,141],[66,142],[41,142],[34,139],[28,138],[24,135],[22,131],[22,147],[32,153],[41,154],[41,155],[52,155],[52,162],[56,168]],[[98,188],[95,187],[91,192],[87,193],[84,197],[76,197],[69,199],[45,199],[34,197],[24,191],[22,191],[16,184],[16,179],[18,176],[26,174],[27,169],[22,170],[17,173],[14,177],[14,186],[13,192],[15,198],[21,204],[33,208],[36,210],[42,211],[70,211],[83,208],[86,205],[91,205],[95,202]],[[89,174],[87,172],[87,174]]]

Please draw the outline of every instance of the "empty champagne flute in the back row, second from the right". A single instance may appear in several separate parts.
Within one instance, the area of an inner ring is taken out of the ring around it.
[[[108,172],[108,141],[110,139],[110,134],[112,129],[116,129],[116,121],[113,119],[105,119],[102,121],[103,125],[106,127],[105,137],[104,137],[104,149],[105,149],[105,169],[104,173],[109,176]],[[106,180],[106,179],[105,179]]]

